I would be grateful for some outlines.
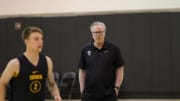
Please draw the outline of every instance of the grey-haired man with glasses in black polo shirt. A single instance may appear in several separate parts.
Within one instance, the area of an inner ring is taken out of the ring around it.
[[[123,80],[124,60],[119,48],[105,40],[106,26],[90,26],[93,42],[81,51],[79,82],[82,101],[117,101]]]

